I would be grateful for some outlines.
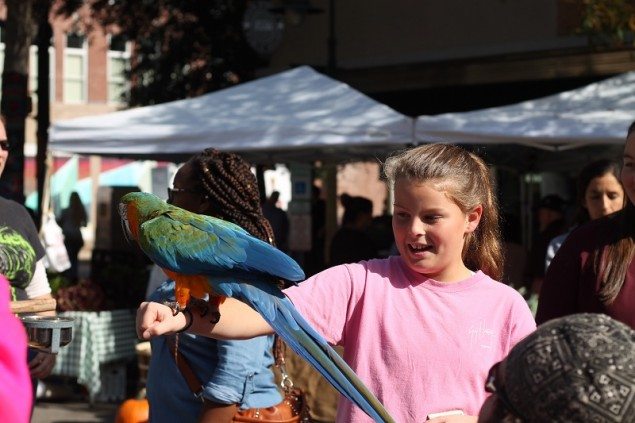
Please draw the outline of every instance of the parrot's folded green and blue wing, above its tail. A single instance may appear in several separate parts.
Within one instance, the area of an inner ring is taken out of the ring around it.
[[[139,245],[150,259],[175,272],[261,272],[294,282],[304,279],[291,257],[220,219],[174,208],[141,224],[139,233]]]

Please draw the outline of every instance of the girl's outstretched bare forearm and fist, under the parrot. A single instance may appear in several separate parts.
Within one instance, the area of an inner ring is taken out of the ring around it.
[[[188,332],[215,339],[249,339],[260,335],[269,335],[273,329],[247,304],[227,298],[220,305],[220,320],[214,324],[208,313],[200,316],[192,311],[192,325]],[[155,302],[144,302],[137,310],[137,335],[141,339],[165,335],[183,329],[189,320],[189,313],[173,315],[172,309]]]

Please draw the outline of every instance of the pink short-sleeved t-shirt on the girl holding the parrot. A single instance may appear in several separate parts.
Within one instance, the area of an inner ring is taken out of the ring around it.
[[[327,269],[285,293],[399,423],[478,415],[490,367],[536,324],[514,289],[482,272],[444,284],[401,257]],[[338,422],[371,422],[341,398]]]

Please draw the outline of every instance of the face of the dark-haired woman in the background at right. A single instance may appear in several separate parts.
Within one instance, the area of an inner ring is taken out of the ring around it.
[[[606,173],[591,179],[584,193],[584,207],[589,212],[591,220],[624,207],[624,189],[615,175]]]

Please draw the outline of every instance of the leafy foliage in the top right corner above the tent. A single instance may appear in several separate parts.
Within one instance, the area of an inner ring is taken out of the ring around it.
[[[583,0],[579,32],[595,46],[635,46],[635,1]]]

